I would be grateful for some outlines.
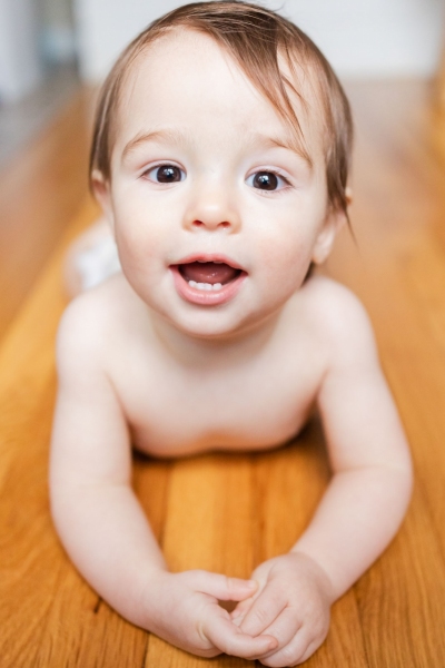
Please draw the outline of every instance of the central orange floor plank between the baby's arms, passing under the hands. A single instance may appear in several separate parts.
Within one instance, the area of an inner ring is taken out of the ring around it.
[[[247,455],[207,454],[176,461],[168,488],[162,549],[172,571],[207,569],[248,577],[253,569],[251,488]],[[151,637],[146,668],[250,665],[235,657],[204,659]]]

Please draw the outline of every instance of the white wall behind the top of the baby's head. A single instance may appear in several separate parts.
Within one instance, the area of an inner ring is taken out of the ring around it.
[[[99,81],[121,49],[178,0],[76,0],[80,68]],[[445,28],[443,0],[264,0],[294,20],[343,77],[429,76]]]

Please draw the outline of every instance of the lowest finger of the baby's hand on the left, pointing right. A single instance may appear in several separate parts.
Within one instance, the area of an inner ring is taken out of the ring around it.
[[[271,636],[253,638],[244,633],[228,618],[211,617],[202,631],[208,640],[221,651],[243,659],[256,659],[277,649],[278,644]]]

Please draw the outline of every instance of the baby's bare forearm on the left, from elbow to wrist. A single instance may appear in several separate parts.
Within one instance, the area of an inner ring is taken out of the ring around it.
[[[70,558],[120,615],[146,627],[142,593],[156,570],[167,570],[131,488],[79,485],[51,490],[52,515]]]

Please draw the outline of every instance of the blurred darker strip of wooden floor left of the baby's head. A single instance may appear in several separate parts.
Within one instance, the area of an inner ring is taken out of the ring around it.
[[[0,171],[0,338],[87,196],[92,101],[76,94]]]

